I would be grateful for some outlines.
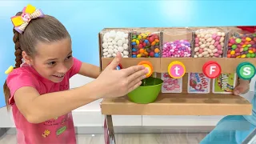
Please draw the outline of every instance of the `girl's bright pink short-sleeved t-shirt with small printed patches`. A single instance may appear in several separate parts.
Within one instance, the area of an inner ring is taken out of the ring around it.
[[[82,62],[74,58],[74,65],[66,73],[62,82],[54,83],[42,78],[32,66],[24,65],[14,69],[6,80],[10,89],[9,103],[12,106],[14,122],[17,129],[18,144],[75,144],[75,132],[72,113],[50,119],[46,122],[33,124],[26,120],[14,102],[14,93],[22,86],[32,86],[39,94],[69,90],[69,79],[78,74]],[[26,97],[26,95],[23,95]],[[53,99],[54,101],[54,99]]]

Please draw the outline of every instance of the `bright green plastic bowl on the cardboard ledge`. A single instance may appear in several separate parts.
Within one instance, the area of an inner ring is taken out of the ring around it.
[[[162,82],[160,78],[145,78],[142,80],[141,86],[127,94],[128,98],[134,103],[145,104],[154,102],[158,98]]]

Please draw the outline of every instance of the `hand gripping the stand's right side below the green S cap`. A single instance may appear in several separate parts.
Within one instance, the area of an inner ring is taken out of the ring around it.
[[[239,79],[239,84],[234,88],[234,95],[246,94],[250,90],[250,81]]]

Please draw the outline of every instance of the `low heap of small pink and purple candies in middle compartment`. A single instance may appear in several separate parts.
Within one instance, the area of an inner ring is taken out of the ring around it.
[[[176,40],[165,42],[162,46],[162,58],[185,58],[191,56],[190,42],[186,40]]]

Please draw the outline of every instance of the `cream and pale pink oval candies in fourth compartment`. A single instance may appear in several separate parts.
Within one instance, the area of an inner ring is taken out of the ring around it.
[[[221,58],[226,34],[219,30],[196,30],[194,58]]]

